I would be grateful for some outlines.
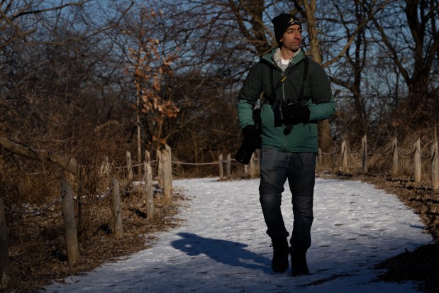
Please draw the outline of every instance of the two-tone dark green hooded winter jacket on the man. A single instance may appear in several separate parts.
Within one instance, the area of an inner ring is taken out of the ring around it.
[[[335,101],[330,89],[328,77],[323,68],[313,60],[309,60],[306,80],[304,74],[304,53],[300,51],[289,63],[285,72],[287,79],[283,83],[279,80],[284,77],[284,72],[274,62],[274,52],[262,56],[260,62],[255,64],[245,79],[238,96],[238,118],[240,128],[253,124],[252,110],[256,101],[262,98],[261,120],[262,120],[262,148],[275,148],[284,152],[318,153],[317,143],[317,121],[329,118],[335,113]],[[272,67],[272,70],[270,70]],[[291,68],[290,68],[291,67]],[[273,77],[270,79],[270,73]],[[274,86],[272,85],[272,82]],[[282,85],[281,85],[282,84]],[[299,123],[292,127],[291,133],[284,135],[284,124],[274,126],[274,107],[280,99],[296,101],[299,96],[302,84],[304,84],[304,99],[302,106],[310,109],[309,123]],[[274,91],[275,102],[265,101]]]

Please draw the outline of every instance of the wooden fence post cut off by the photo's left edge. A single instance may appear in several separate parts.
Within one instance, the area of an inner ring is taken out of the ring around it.
[[[9,265],[9,245],[6,234],[6,219],[4,216],[3,199],[0,199],[0,289],[8,287],[11,281]]]

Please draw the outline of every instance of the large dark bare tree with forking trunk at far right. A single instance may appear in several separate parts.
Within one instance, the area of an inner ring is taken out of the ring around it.
[[[370,9],[367,2],[364,5]],[[439,3],[435,0],[395,1],[388,11],[373,18],[379,40],[408,89],[408,100],[399,116],[404,121],[411,117],[415,125],[432,122],[432,104],[438,109],[439,87],[433,82],[437,79],[438,18]],[[396,124],[404,123],[396,120]]]

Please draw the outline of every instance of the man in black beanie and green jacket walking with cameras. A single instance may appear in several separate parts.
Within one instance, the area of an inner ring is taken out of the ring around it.
[[[306,251],[311,245],[313,222],[317,121],[334,114],[335,101],[323,68],[301,50],[301,23],[286,13],[273,18],[272,23],[279,46],[262,56],[248,73],[238,96],[238,117],[243,147],[250,153],[260,148],[262,136],[259,192],[274,250],[272,270],[287,271],[291,255],[292,275],[309,275]],[[252,118],[261,93],[262,135]],[[291,247],[281,212],[287,179],[294,212]]]

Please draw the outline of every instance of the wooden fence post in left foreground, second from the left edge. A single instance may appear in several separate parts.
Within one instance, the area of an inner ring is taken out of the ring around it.
[[[62,197],[62,214],[64,215],[67,259],[70,264],[74,264],[79,261],[79,248],[76,222],[74,220],[73,189],[63,179],[61,179],[61,192],[64,194],[64,197]]]

